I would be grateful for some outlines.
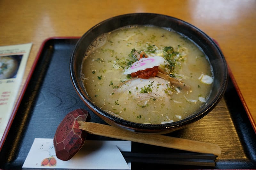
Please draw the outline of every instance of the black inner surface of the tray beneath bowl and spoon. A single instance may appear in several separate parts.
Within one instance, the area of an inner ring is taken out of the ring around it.
[[[80,100],[69,75],[69,59],[78,37],[44,41],[25,88],[1,141],[0,168],[22,169],[35,138],[53,138],[64,116],[77,108],[88,110],[91,122],[106,124]],[[132,169],[253,169],[256,168],[255,123],[229,71],[228,88],[211,113],[187,128],[167,134],[218,144],[215,167],[132,163]],[[114,140],[88,135],[88,140]],[[132,143],[132,152],[175,150]]]

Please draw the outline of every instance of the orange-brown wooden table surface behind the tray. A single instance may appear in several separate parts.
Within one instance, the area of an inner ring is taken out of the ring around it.
[[[0,46],[33,43],[23,87],[45,39],[82,36],[104,19],[134,12],[185,20],[217,40],[256,122],[255,0],[1,0]]]

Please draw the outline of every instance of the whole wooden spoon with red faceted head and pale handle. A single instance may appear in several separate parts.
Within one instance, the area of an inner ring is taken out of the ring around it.
[[[212,153],[216,156],[221,154],[220,147],[216,144],[164,135],[135,133],[109,125],[88,122],[89,119],[90,114],[83,109],[77,109],[66,115],[53,139],[57,158],[64,161],[72,158],[83,146],[87,133],[184,151]]]

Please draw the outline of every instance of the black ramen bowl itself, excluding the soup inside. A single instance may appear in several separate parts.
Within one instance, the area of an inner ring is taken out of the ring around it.
[[[202,48],[213,67],[214,81],[212,93],[207,104],[205,104],[201,110],[184,120],[173,123],[140,124],[112,116],[92,103],[86,90],[83,88],[83,82],[80,77],[81,63],[84,58],[84,54],[97,36],[128,25],[155,25],[158,27],[169,27],[172,30],[187,36]],[[228,69],[225,58],[216,43],[214,43],[208,35],[185,21],[154,13],[132,13],[120,15],[104,20],[92,27],[76,43],[70,60],[70,74],[79,97],[96,115],[105,120],[108,124],[135,132],[161,134],[184,128],[211,112],[223,96],[228,81]]]

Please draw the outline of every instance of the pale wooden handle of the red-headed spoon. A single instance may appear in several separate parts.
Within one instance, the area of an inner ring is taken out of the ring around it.
[[[220,147],[213,143],[200,142],[195,140],[177,138],[164,135],[148,135],[121,130],[109,125],[94,122],[77,121],[79,129],[83,129],[90,134],[106,136],[127,141],[163,146],[166,148],[192,151],[198,153],[212,153],[216,156],[221,154]]]

